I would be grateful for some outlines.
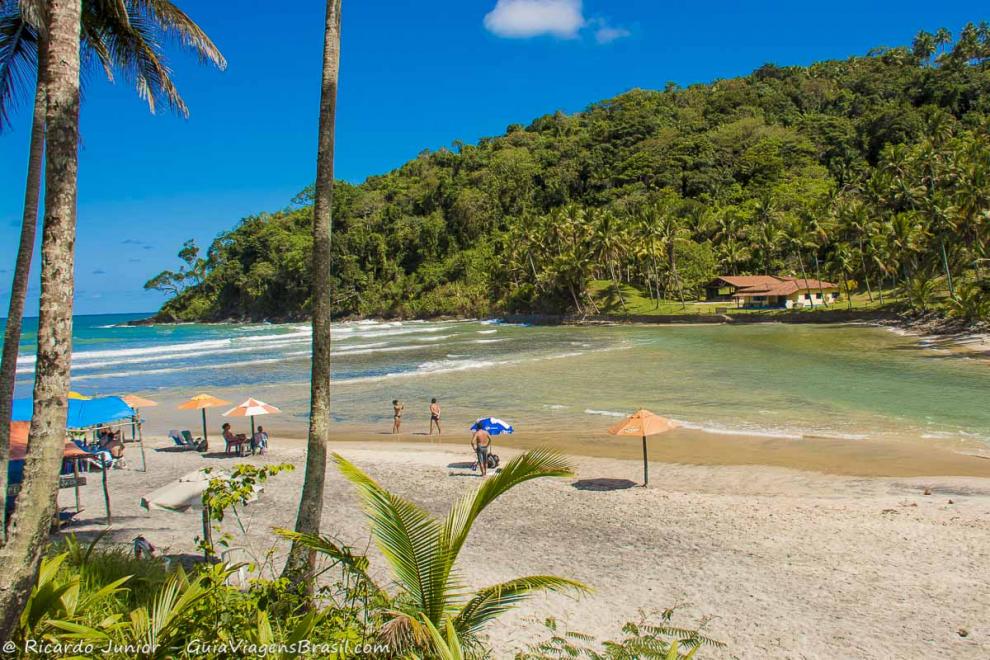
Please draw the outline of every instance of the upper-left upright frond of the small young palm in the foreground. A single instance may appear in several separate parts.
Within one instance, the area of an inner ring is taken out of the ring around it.
[[[382,488],[339,454],[333,460],[357,486],[379,550],[420,611],[439,622],[446,608],[454,557],[440,542],[440,524],[416,504]]]

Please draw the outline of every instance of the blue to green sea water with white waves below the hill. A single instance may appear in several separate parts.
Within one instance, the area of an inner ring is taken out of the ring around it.
[[[243,393],[305,422],[307,325],[126,324],[134,318],[76,319],[75,390]],[[30,394],[32,323],[18,396]],[[867,326],[366,321],[335,326],[333,355],[335,419],[357,426],[387,424],[393,398],[417,414],[437,397],[445,413],[541,430],[604,427],[647,407],[726,434],[990,441],[986,360]]]

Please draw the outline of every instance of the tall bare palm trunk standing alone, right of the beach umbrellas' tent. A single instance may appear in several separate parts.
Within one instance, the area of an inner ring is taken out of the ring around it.
[[[337,79],[340,73],[341,0],[327,0],[323,41],[323,89],[320,94],[320,135],[316,155],[316,199],[313,205],[313,365],[310,380],[309,442],[306,475],[296,531],[319,534],[323,519],[323,489],[330,439],[330,227],[333,207],[334,125]],[[316,554],[293,543],[282,576],[312,595]]]

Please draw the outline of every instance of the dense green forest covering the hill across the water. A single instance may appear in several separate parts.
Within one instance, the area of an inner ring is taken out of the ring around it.
[[[309,306],[311,190],[148,282],[159,318]],[[696,298],[787,274],[985,317],[990,28],[731,80],[632,90],[336,184],[338,316],[593,313],[592,283]]]

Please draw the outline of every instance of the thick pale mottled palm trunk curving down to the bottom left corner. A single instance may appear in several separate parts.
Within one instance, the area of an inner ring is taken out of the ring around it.
[[[10,535],[0,548],[0,639],[10,639],[38,573],[57,513],[65,443],[79,164],[80,0],[49,0],[46,57],[48,158],[41,241],[41,307],[28,456]]]

